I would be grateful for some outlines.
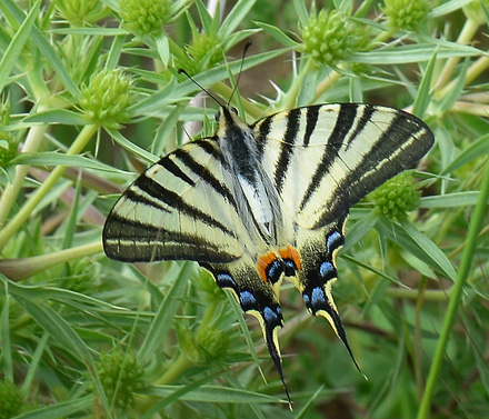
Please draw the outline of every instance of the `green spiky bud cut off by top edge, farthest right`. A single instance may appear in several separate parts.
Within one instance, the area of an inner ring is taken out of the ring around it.
[[[427,0],[385,0],[387,21],[395,29],[416,32],[430,11]]]

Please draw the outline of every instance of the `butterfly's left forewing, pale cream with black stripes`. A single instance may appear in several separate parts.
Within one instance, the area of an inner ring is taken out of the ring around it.
[[[247,236],[213,140],[183,146],[122,194],[103,229],[106,253],[123,261],[230,262]]]

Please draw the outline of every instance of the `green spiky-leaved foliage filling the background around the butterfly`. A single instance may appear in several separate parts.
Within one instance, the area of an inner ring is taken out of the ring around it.
[[[301,41],[299,0],[221,2],[214,18],[200,1],[3,0],[0,418],[488,417],[488,4],[422,4],[317,2],[346,19],[315,22],[325,59]],[[333,293],[368,380],[285,287],[293,412],[255,319],[206,272],[101,253],[134,173],[213,132],[216,103],[177,69],[228,100],[248,39],[233,97],[248,121],[361,101],[437,139],[416,211],[351,210]]]

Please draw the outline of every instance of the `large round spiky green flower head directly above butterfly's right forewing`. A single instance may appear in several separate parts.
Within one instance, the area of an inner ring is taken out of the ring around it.
[[[368,44],[366,28],[337,10],[311,14],[300,32],[302,52],[311,56],[318,67],[336,66]]]

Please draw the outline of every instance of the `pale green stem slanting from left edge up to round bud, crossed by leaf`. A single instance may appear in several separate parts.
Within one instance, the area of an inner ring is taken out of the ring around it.
[[[98,129],[99,126],[96,124],[84,126],[77,139],[71,144],[70,149],[67,151],[67,154],[78,154],[81,152]],[[42,198],[44,198],[46,194],[54,187],[56,182],[61,178],[67,168],[67,166],[56,167],[48,179],[46,179],[46,181],[30,197],[19,212],[0,231],[0,251],[3,249],[9,239],[22,228],[31,212],[36,209]]]

